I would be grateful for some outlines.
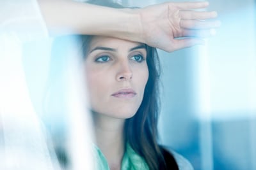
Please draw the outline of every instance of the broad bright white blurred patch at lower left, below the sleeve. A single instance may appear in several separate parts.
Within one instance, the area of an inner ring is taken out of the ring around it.
[[[52,164],[43,126],[29,97],[22,43],[16,34],[0,32],[0,85],[0,169],[58,169]]]

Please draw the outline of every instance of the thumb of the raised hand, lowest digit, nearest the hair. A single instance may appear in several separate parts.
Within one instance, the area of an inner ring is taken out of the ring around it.
[[[204,45],[205,41],[204,39],[200,39],[200,38],[185,38],[185,39],[174,39],[172,43],[175,46],[172,47],[172,50],[170,52],[174,50],[180,50],[182,48],[188,48],[195,45]]]

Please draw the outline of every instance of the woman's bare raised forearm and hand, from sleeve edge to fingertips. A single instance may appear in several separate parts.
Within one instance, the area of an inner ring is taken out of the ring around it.
[[[202,39],[195,37],[207,36],[211,28],[219,25],[216,21],[205,21],[216,17],[216,12],[194,11],[206,8],[207,2],[163,3],[134,10],[70,0],[38,0],[38,4],[51,34],[112,36],[147,43],[167,52],[202,43]]]

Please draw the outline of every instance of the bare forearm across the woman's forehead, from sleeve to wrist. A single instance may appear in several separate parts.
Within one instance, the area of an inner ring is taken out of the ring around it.
[[[38,0],[50,34],[96,34],[143,41],[135,10],[106,8],[76,1]]]

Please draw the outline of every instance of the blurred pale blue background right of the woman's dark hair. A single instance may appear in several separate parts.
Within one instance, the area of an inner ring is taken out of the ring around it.
[[[161,0],[124,1],[132,6]],[[179,2],[179,1],[177,1]],[[209,1],[221,27],[205,46],[159,51],[160,142],[195,169],[256,169],[256,1]]]

